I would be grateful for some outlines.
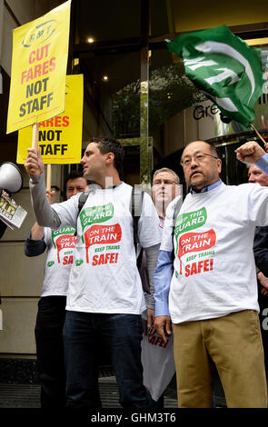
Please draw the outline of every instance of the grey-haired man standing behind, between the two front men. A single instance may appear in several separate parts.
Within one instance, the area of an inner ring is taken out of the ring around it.
[[[159,229],[164,226],[165,210],[174,199],[180,200],[180,179],[169,168],[154,172],[152,198],[159,216]],[[140,268],[145,296],[150,293],[146,256],[143,253]],[[150,300],[151,302],[151,300]],[[173,355],[173,337],[164,343],[157,333],[151,333],[154,326],[154,305],[147,304],[148,319],[144,321],[144,338],[142,341],[142,362],[144,366],[144,385],[154,399],[154,408],[164,408],[164,390],[172,380],[175,372]],[[145,316],[144,316],[145,317]],[[146,318],[145,318],[146,319]],[[148,328],[148,329],[147,329]]]

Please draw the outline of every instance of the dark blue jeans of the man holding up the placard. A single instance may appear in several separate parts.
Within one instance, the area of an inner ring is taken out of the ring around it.
[[[149,408],[143,384],[143,324],[136,314],[66,312],[64,327],[67,406],[95,408],[96,345],[110,353],[124,408]]]

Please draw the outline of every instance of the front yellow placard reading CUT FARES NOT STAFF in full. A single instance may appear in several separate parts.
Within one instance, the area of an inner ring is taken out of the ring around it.
[[[65,111],[71,0],[13,32],[7,131]]]

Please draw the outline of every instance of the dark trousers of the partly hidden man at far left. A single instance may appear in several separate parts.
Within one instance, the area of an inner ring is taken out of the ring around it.
[[[65,296],[45,296],[38,303],[35,343],[43,408],[65,407],[65,306]]]

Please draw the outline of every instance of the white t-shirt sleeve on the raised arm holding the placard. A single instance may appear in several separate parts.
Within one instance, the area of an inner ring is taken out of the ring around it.
[[[76,228],[79,196],[80,194],[75,194],[61,204],[52,204],[52,209],[60,218],[61,228],[65,226]]]

